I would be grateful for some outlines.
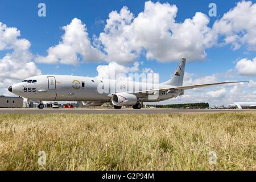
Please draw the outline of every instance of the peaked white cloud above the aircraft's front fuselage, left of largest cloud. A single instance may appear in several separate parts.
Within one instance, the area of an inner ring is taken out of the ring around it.
[[[61,37],[62,41],[50,47],[46,57],[38,56],[35,61],[78,65],[80,63],[78,54],[82,56],[84,62],[102,61],[105,57],[104,53],[92,46],[85,26],[80,19],[74,18],[70,24],[62,27],[65,31]]]

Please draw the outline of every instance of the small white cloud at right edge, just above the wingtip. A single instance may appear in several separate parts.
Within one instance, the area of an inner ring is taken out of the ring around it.
[[[242,59],[237,62],[236,69],[240,76],[254,77],[256,76],[256,57],[253,61],[249,59]]]

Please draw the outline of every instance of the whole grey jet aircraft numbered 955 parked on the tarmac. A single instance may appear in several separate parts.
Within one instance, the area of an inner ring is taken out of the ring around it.
[[[26,78],[10,86],[8,90],[18,96],[28,98],[29,101],[38,102],[39,109],[44,107],[42,101],[82,101],[84,105],[102,105],[104,102],[112,102],[115,109],[121,109],[122,106],[141,109],[143,102],[168,100],[183,95],[184,90],[187,89],[244,82],[182,86],[185,61],[185,58],[181,59],[172,78],[161,84],[100,80],[71,75],[42,75]]]

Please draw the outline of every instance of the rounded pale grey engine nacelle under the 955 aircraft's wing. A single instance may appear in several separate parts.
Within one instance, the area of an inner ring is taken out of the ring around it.
[[[112,96],[112,104],[114,106],[133,106],[137,104],[137,97],[126,92],[115,93]]]

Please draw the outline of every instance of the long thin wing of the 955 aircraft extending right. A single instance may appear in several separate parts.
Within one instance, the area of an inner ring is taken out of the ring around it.
[[[218,82],[214,84],[201,84],[201,85],[189,85],[189,86],[177,86],[177,87],[169,87],[169,88],[161,88],[161,89],[152,89],[152,90],[144,90],[140,92],[135,92],[135,94],[152,94],[154,92],[162,91],[165,92],[167,90],[187,90],[187,89],[194,89],[194,88],[200,88],[205,86],[213,86],[213,85],[221,85],[221,84],[234,84],[234,83],[240,83],[240,82],[248,82],[248,81],[230,81],[230,82]]]

